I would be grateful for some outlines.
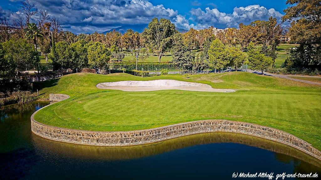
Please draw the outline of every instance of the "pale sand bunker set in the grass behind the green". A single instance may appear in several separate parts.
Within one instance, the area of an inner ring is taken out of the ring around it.
[[[157,90],[185,90],[185,91],[204,91],[204,92],[235,92],[233,89],[214,89],[210,85],[201,83],[184,82],[169,79],[152,81],[117,81],[99,83],[96,85],[100,89],[117,89],[122,91],[157,91]]]

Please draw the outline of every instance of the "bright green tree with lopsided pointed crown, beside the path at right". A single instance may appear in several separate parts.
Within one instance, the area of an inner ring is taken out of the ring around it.
[[[255,50],[254,44],[251,42],[248,45],[248,63],[252,70],[260,70],[262,75],[264,70],[271,68],[273,60],[271,57],[267,57],[259,51]]]

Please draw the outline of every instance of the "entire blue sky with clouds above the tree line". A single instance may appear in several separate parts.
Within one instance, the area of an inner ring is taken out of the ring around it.
[[[20,0],[0,0],[0,16],[23,16]],[[281,21],[286,0],[30,0],[59,19],[74,33],[103,32],[124,25],[148,24],[152,18],[170,19],[178,28],[237,27],[270,16]],[[34,16],[35,20],[36,16]]]

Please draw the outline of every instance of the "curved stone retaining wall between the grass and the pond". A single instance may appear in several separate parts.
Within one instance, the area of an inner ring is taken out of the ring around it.
[[[69,98],[67,95],[59,95],[59,97],[61,97],[62,100]],[[34,115],[38,111],[39,110],[31,115],[32,132],[36,135],[55,141],[96,146],[127,146],[153,143],[197,133],[235,132],[284,143],[321,160],[321,152],[302,139],[278,129],[246,122],[221,119],[200,120],[145,130],[95,132],[44,125],[34,119]]]

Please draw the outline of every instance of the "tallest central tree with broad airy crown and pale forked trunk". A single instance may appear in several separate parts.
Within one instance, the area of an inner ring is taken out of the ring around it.
[[[166,52],[172,45],[172,36],[179,33],[175,30],[175,25],[167,19],[154,18],[152,22],[149,23],[148,29],[144,30],[150,39],[151,47],[158,54],[158,61],[164,52]]]

